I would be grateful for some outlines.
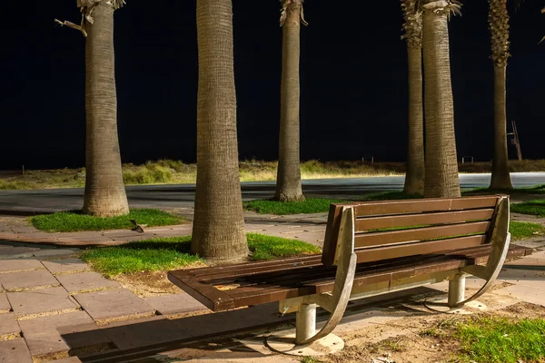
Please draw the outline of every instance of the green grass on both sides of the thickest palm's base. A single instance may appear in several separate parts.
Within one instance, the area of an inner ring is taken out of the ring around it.
[[[301,240],[287,240],[248,233],[251,260],[273,260],[301,254],[320,253],[320,249]],[[119,246],[85,250],[82,259],[107,276],[140,271],[182,269],[203,260],[191,252],[191,236],[137,240]]]

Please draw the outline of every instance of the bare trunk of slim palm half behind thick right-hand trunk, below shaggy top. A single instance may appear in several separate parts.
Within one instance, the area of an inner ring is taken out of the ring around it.
[[[422,106],[422,50],[407,46],[409,61],[409,147],[403,191],[424,194],[424,110]]]

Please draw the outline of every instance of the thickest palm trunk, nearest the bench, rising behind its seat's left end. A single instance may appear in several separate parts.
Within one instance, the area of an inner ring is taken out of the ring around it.
[[[217,262],[248,255],[238,169],[231,0],[197,0],[197,187],[191,250]]]

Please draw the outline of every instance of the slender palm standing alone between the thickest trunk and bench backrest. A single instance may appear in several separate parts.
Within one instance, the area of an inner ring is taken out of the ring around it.
[[[299,146],[299,55],[301,23],[307,25],[302,12],[303,0],[280,0],[282,3],[282,83],[280,101],[280,140],[277,201],[304,201],[301,186]]]

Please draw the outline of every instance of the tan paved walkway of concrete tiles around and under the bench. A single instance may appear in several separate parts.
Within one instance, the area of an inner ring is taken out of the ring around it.
[[[325,219],[325,213],[285,217],[246,213],[248,231],[316,245],[322,244]],[[263,346],[266,331],[286,324],[292,328],[293,314],[279,316],[276,304],[210,314],[182,291],[140,298],[77,257],[77,247],[190,232],[190,225],[182,225],[145,229],[143,234],[44,233],[23,218],[0,216],[0,362],[299,361]],[[519,301],[545,306],[545,251],[539,251],[545,248],[545,239],[521,243],[538,250],[506,265],[496,289],[484,299],[489,309]],[[467,289],[481,283],[468,279]],[[400,319],[411,314],[403,308],[407,301],[445,289],[443,283],[351,302],[336,332]],[[248,330],[257,332],[245,334]]]

